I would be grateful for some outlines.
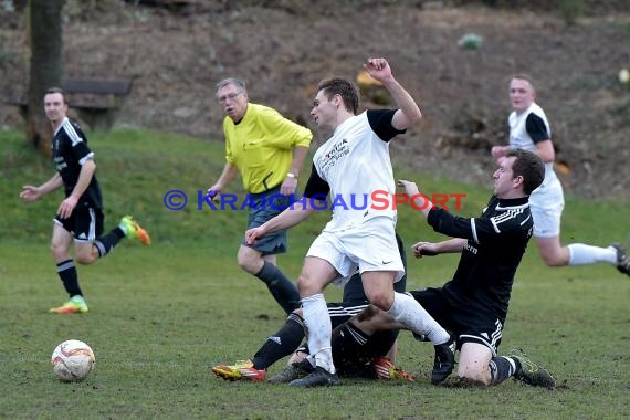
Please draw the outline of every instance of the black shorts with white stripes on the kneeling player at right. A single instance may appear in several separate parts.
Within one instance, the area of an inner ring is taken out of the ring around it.
[[[503,322],[500,318],[453,305],[441,287],[407,293],[456,338],[458,349],[463,343],[477,343],[486,346],[492,355],[496,356],[503,335]]]

